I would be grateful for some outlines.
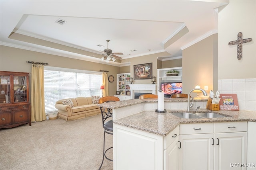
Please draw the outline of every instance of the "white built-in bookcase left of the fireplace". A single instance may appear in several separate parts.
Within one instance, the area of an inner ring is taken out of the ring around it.
[[[114,95],[120,100],[130,99],[130,73],[117,74],[117,92],[119,94]]]

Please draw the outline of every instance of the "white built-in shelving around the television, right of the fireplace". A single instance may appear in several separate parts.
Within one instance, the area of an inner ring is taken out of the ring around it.
[[[178,76],[166,76],[168,70],[178,70]],[[157,89],[161,90],[161,82],[182,82],[182,67],[160,68],[157,69]]]

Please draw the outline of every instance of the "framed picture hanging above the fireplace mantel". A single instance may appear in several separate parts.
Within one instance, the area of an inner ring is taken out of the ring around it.
[[[133,66],[134,79],[152,79],[152,63]]]

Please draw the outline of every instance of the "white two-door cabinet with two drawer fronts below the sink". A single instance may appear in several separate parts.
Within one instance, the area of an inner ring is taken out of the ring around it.
[[[180,125],[179,169],[241,169],[231,164],[247,163],[246,131],[247,122]]]

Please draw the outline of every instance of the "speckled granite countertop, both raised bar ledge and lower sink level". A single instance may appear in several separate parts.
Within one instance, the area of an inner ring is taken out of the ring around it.
[[[208,98],[196,99],[196,102],[205,102]],[[121,107],[132,106],[141,103],[153,103],[157,102],[158,99],[130,99],[122,100],[119,102],[108,102],[103,104],[98,104],[97,106],[117,109]],[[164,98],[164,102],[188,102],[187,98]],[[254,121],[256,122],[256,111],[211,111],[207,109],[201,109],[199,112],[212,112],[221,115],[226,115],[227,117],[221,118],[202,118],[202,119],[184,119],[176,117],[170,113],[172,112],[184,112],[186,109],[180,110],[167,110],[167,113],[157,113],[155,111],[142,111],[134,115],[130,115],[121,119],[113,120],[113,123],[118,125],[123,125],[126,127],[131,127],[134,129],[154,133],[161,136],[166,136],[173,129],[175,129],[180,124],[186,123],[211,123],[211,122],[231,122],[231,121]],[[187,111],[186,111],[187,112]],[[190,111],[193,113],[196,111]]]

